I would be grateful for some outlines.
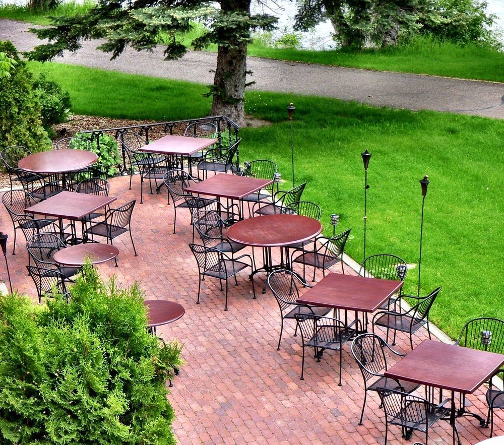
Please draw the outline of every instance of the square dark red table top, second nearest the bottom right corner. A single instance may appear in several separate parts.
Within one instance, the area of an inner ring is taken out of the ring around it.
[[[308,289],[298,303],[374,312],[403,285],[402,281],[331,273]]]

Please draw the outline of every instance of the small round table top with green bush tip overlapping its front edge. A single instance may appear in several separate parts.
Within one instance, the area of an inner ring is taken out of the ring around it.
[[[82,266],[87,258],[91,264],[100,264],[113,260],[117,255],[119,255],[119,249],[113,245],[86,242],[58,250],[52,259],[65,266]]]

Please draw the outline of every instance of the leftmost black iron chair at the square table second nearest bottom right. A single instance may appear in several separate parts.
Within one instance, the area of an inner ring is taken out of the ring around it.
[[[316,315],[327,315],[331,310],[330,307],[309,306],[307,304],[298,304],[296,300],[299,298],[298,284],[303,287],[312,287],[305,283],[304,280],[295,272],[287,269],[280,269],[272,272],[266,279],[266,284],[273,292],[280,308],[280,336],[278,337],[277,351],[280,351],[280,342],[282,341],[283,322],[285,319],[294,320],[296,313],[310,313]],[[297,336],[297,323],[294,337]]]

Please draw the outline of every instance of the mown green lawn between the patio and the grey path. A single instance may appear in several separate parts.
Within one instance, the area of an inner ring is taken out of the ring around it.
[[[200,85],[60,63],[30,63],[30,67],[58,78],[78,107],[73,111],[81,114],[96,114],[100,108],[98,115],[162,121],[204,116],[210,111],[209,100],[201,97],[205,87]],[[117,94],[123,84],[129,85],[127,96]],[[152,91],[159,106],[150,103]],[[98,96],[102,102],[94,103]],[[368,149],[373,157],[368,171],[366,253],[394,253],[408,264],[416,264],[421,210],[418,181],[428,174],[421,293],[443,286],[431,312],[432,321],[453,337],[472,317],[504,318],[504,308],[495,304],[502,296],[499,284],[504,264],[499,230],[504,202],[498,171],[504,122],[247,92],[246,112],[272,124],[240,130],[240,159],[277,162],[284,189],[291,184],[285,109],[289,102],[296,106],[296,183],[306,181],[303,199],[322,207],[325,233],[332,233],[329,215],[338,213],[338,229],[352,227],[346,251],[361,261],[364,171],[360,153]],[[416,279],[417,269],[410,270],[407,293],[416,294]]]

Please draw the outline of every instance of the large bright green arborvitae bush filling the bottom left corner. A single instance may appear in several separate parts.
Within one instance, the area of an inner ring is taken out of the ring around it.
[[[0,443],[175,443],[166,383],[181,347],[146,320],[137,285],[89,265],[68,302],[0,297]]]

